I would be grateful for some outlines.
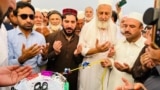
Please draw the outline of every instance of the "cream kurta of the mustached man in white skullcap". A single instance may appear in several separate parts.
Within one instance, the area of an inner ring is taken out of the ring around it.
[[[130,67],[132,67],[140,51],[144,47],[145,40],[145,38],[141,37],[135,43],[129,43],[126,40],[119,41],[115,46],[115,61],[122,64],[127,63]],[[120,72],[113,67],[109,78],[108,90],[115,90],[117,86],[123,85],[124,83],[122,82],[122,77],[129,80],[129,82],[134,82],[134,79],[130,74]]]

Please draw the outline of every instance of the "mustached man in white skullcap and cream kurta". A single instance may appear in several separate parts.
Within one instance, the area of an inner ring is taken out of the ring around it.
[[[125,77],[129,82],[134,82],[134,79],[129,73],[140,51],[144,47],[146,39],[141,35],[142,29],[142,14],[132,12],[127,15],[123,33],[125,38],[118,41],[115,45],[116,53],[107,90],[115,90],[117,86],[123,85],[122,77]]]

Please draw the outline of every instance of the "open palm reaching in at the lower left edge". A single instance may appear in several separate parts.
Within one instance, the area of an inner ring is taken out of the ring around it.
[[[30,66],[0,67],[0,86],[10,86],[29,76],[32,72]]]

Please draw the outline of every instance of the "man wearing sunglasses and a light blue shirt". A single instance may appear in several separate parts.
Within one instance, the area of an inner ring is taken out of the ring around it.
[[[47,63],[48,44],[42,34],[32,30],[35,10],[27,2],[18,2],[15,10],[18,26],[8,31],[10,65],[30,65],[33,73]]]

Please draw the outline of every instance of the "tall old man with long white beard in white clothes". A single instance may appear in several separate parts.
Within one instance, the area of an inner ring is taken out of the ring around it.
[[[82,45],[83,62],[96,64],[80,70],[78,90],[106,90],[107,88],[109,67],[112,65],[108,53],[116,42],[116,25],[111,16],[112,0],[99,0],[95,18],[82,28],[79,44]],[[100,65],[104,60],[108,66],[106,68]]]

